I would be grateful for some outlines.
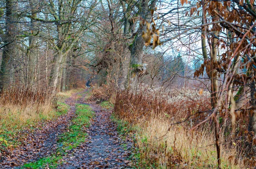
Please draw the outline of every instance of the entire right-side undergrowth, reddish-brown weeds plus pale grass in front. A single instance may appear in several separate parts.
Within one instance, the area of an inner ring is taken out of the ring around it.
[[[147,90],[116,94],[114,116],[119,131],[135,138],[137,168],[217,168],[211,121],[190,131],[207,117],[209,99],[170,101],[170,97],[174,96]],[[244,144],[241,139],[227,139],[230,128],[226,126],[221,137],[222,168],[243,168]]]

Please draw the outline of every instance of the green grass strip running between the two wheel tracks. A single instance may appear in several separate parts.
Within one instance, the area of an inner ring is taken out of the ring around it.
[[[93,118],[93,111],[88,105],[77,104],[76,113],[77,116],[71,121],[72,124],[68,127],[67,132],[64,132],[59,136],[59,147],[57,151],[49,157],[41,158],[36,162],[26,163],[23,168],[55,168],[63,155],[67,154],[69,150],[76,148],[79,144],[85,141],[85,137],[87,135],[85,129],[89,127],[90,118]]]

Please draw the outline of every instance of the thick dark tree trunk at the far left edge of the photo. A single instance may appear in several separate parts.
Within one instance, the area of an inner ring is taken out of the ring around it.
[[[17,0],[6,0],[6,34],[3,48],[3,56],[0,71],[0,90],[11,87],[14,82],[14,58],[17,56],[17,44],[15,35],[17,31]]]

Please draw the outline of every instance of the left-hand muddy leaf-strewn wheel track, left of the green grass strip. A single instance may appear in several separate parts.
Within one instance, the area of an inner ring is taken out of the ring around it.
[[[19,135],[22,136],[23,141],[17,148],[3,152],[0,157],[0,169],[19,168],[18,166],[24,163],[37,161],[39,158],[52,154],[58,148],[58,135],[65,132],[71,119],[75,116],[75,103],[78,94],[75,93],[66,99],[65,102],[70,105],[70,110],[65,115],[51,121],[41,122],[34,130],[20,132]]]

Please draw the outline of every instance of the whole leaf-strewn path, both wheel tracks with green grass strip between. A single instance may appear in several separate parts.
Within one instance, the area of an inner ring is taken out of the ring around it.
[[[23,141],[3,152],[0,169],[131,168],[131,142],[118,134],[112,110],[86,101],[86,96],[85,90],[73,94],[65,100],[70,106],[66,114],[20,132]]]

